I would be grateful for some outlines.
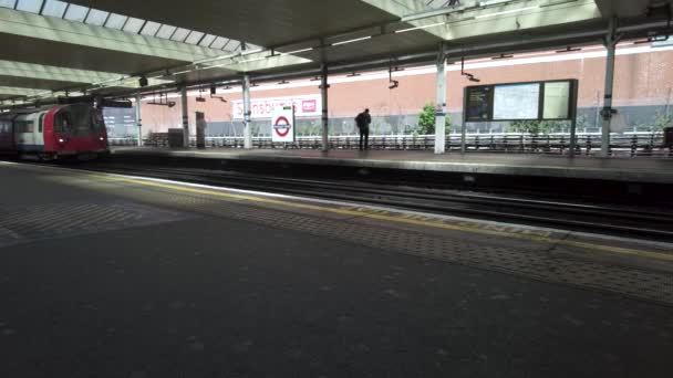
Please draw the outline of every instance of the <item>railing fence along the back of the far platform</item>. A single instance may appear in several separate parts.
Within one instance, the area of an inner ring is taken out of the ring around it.
[[[330,136],[330,149],[358,149],[359,136]],[[135,146],[134,138],[110,138],[111,146]],[[189,140],[196,146],[196,138]],[[155,133],[152,138],[144,139],[146,147],[168,147],[167,134]],[[253,137],[252,146],[258,149],[319,149],[322,140],[319,136],[297,137],[294,143],[273,143],[271,137]],[[613,156],[631,157],[673,157],[673,149],[664,146],[661,133],[624,133],[611,136]],[[242,137],[206,137],[207,148],[244,148]],[[373,135],[370,136],[370,149],[373,150],[434,150],[434,135]],[[548,154],[568,155],[570,151],[569,134],[529,135],[529,134],[468,134],[466,147],[469,153],[505,153],[505,154]],[[601,148],[599,133],[578,134],[576,155],[597,155]],[[446,137],[447,150],[460,150],[460,135],[452,134]]]

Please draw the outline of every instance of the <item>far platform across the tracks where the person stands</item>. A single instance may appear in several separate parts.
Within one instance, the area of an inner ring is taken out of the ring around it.
[[[314,149],[164,149],[116,147],[115,156],[165,156],[327,167],[361,167],[465,175],[591,179],[622,182],[673,183],[673,159],[561,157],[530,154],[445,154],[426,151]]]

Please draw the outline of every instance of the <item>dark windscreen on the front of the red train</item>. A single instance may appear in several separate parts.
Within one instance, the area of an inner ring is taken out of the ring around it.
[[[91,105],[69,105],[56,113],[54,132],[68,136],[89,136],[105,130],[103,114]]]

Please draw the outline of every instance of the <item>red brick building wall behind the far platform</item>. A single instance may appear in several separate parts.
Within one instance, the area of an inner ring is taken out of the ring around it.
[[[582,51],[557,53],[538,52],[517,54],[511,59],[472,60],[466,71],[480,80],[479,84],[543,81],[557,78],[579,80],[579,106],[584,127],[596,125],[597,109],[602,106],[604,86],[605,53],[602,46],[590,46]],[[463,90],[468,82],[460,76],[460,64],[451,65],[447,73],[448,109],[457,123],[463,104]],[[434,102],[435,70],[432,66],[406,69],[394,73],[400,87],[389,90],[387,72],[367,72],[359,76],[335,75],[330,77],[329,115],[331,133],[353,132],[352,119],[364,107],[375,116],[374,130],[380,134],[408,132],[414,127],[417,114],[424,104]],[[623,43],[618,49],[614,86],[614,106],[629,128],[646,128],[654,118],[669,109],[673,87],[673,46],[652,48],[649,44]],[[222,103],[210,99],[208,88],[204,92],[205,103],[196,102],[198,92],[190,93],[190,127],[195,125],[195,112],[204,112],[209,123],[209,134],[235,135],[240,132],[240,120],[236,118],[234,103],[241,99],[240,87],[220,90],[228,99]],[[259,83],[251,92],[252,101],[269,97],[306,96],[319,98],[318,83],[310,80],[292,81],[289,84]],[[178,94],[173,95],[177,105],[142,106],[143,130],[165,132],[169,127],[182,126],[182,109]],[[253,119],[256,134],[265,134],[263,119]],[[319,117],[300,119],[301,127],[318,127]],[[581,127],[581,126],[580,126]],[[133,134],[133,133],[131,133]]]

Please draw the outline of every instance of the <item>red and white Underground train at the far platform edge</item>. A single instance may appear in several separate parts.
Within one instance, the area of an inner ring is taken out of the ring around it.
[[[0,114],[0,154],[53,160],[108,153],[103,113],[91,103]]]

